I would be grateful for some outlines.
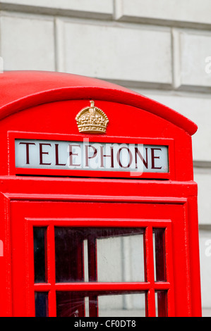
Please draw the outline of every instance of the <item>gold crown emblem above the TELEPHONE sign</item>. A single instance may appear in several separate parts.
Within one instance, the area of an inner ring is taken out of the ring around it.
[[[95,102],[90,101],[90,107],[83,108],[76,116],[79,132],[105,133],[109,119],[100,109],[95,107]]]

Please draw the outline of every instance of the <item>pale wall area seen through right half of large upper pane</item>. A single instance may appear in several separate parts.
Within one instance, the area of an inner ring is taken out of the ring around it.
[[[142,229],[118,229],[97,239],[98,282],[144,282]]]

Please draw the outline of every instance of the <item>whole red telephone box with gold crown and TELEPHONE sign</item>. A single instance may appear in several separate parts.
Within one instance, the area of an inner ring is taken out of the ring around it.
[[[0,87],[1,316],[201,316],[196,125],[88,77]]]

